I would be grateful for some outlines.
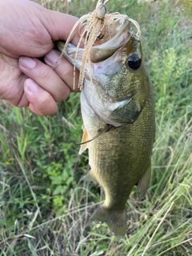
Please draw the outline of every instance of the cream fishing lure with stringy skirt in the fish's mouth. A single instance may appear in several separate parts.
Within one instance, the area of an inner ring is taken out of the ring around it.
[[[78,20],[78,22],[74,24],[74,27],[71,30],[69,37],[66,40],[66,44],[62,50],[62,53],[58,58],[58,61],[54,64],[54,67],[55,67],[58,64],[59,60],[62,58],[63,54],[66,51],[66,47],[70,42],[72,34],[74,34],[74,31],[78,27],[78,33],[79,33],[80,39],[78,42],[74,59],[77,58],[78,49],[81,43],[83,42],[84,44],[84,53],[82,54],[82,66],[80,69],[79,82],[78,82],[78,87],[80,90],[82,90],[82,86],[83,86],[86,63],[88,63],[88,66],[90,66],[91,47],[96,44],[99,45],[104,42],[107,42],[108,40],[110,40],[110,38],[113,38],[114,34],[116,33],[116,28],[119,26],[120,18],[128,19],[130,22],[134,24],[134,26],[136,26],[137,28],[136,36],[138,38],[140,37],[140,34],[141,34],[138,22],[134,21],[134,19],[132,18],[129,18],[126,14],[119,14],[118,12],[113,14],[106,14],[106,2],[108,1],[109,0],[98,0],[95,10],[93,12],[90,12],[89,14],[83,15]],[[76,66],[74,61],[74,74],[75,74],[75,67]],[[92,77],[91,69],[89,70],[90,70],[90,79],[91,79]],[[74,86],[75,86],[75,75],[74,75]]]

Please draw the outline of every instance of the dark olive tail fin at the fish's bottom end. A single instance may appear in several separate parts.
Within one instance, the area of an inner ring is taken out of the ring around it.
[[[115,236],[124,236],[126,234],[126,210],[107,211],[101,206],[94,211],[90,220],[106,222]]]

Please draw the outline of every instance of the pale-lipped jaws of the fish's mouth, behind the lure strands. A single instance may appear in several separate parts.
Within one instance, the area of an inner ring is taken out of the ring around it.
[[[130,21],[125,18],[120,18],[119,26],[116,29],[114,37],[99,46],[92,46],[90,48],[90,62],[98,63],[110,58],[110,56],[130,40],[130,37]],[[58,41],[56,42],[56,46],[58,50],[62,52],[65,42]],[[83,51],[83,48],[77,48],[69,43],[63,55],[80,70]]]

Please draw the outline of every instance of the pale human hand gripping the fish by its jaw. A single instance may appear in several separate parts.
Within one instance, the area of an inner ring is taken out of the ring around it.
[[[0,0],[0,99],[35,114],[57,112],[57,102],[73,90],[74,74],[65,58],[53,70],[59,57],[54,42],[65,41],[77,20],[28,0]]]

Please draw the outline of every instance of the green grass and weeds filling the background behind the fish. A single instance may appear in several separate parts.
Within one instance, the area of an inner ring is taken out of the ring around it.
[[[81,16],[95,2],[38,1]],[[82,136],[79,94],[39,117],[0,102],[0,255],[192,255],[192,12],[191,1],[114,1],[107,11],[138,21],[154,86],[156,139],[150,190],[127,202],[127,235],[90,222],[104,198],[78,156]],[[184,10],[182,10],[184,8]]]

